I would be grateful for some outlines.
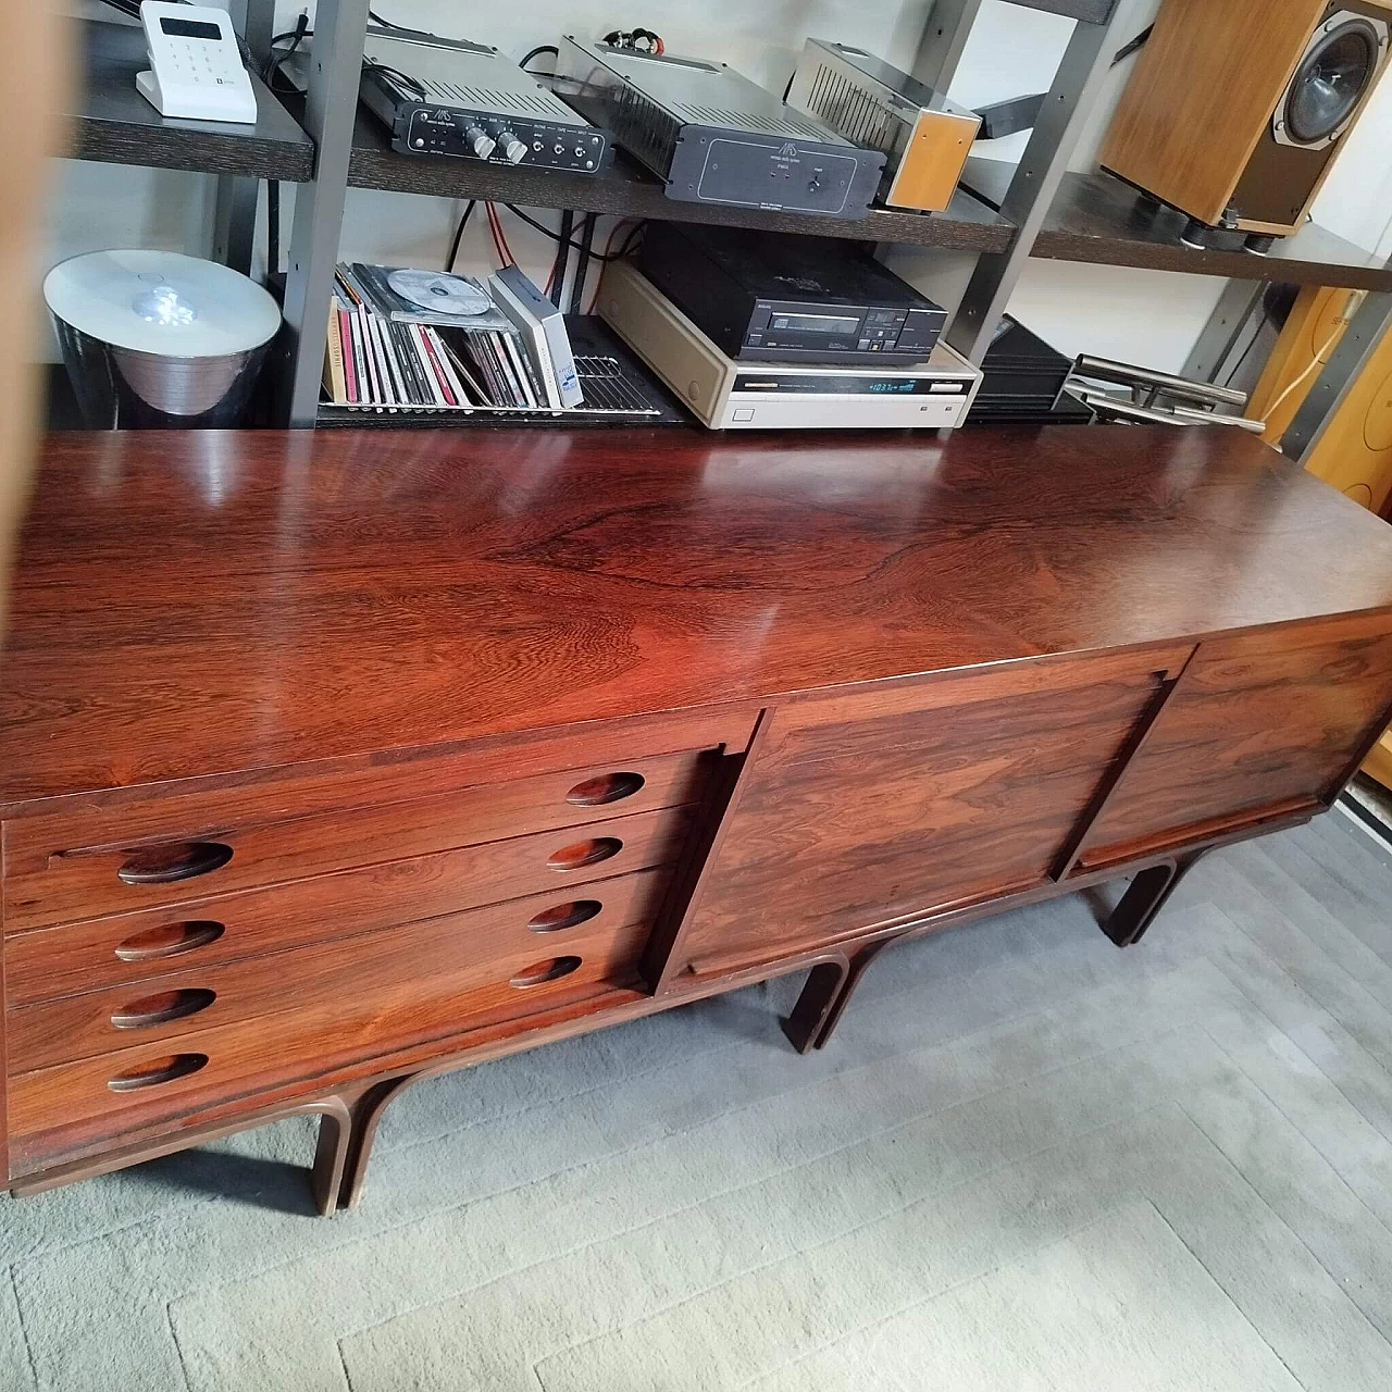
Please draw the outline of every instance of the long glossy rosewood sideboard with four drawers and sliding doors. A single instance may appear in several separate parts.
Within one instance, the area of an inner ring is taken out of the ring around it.
[[[1392,529],[1225,430],[54,436],[0,658],[17,1193],[1324,812]]]

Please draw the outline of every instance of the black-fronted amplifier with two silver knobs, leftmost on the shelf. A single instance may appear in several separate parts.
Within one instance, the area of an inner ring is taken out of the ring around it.
[[[363,104],[404,155],[452,155],[599,174],[608,132],[590,125],[511,58],[477,43],[369,29]]]

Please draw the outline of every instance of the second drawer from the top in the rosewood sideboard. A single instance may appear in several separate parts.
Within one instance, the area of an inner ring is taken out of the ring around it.
[[[458,913],[667,864],[681,853],[689,809],[611,817],[433,856],[195,899],[4,942],[10,1006],[210,967],[326,938]],[[579,848],[579,849],[576,849]]]

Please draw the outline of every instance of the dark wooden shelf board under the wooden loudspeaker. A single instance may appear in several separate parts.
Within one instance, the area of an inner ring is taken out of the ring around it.
[[[998,205],[1013,173],[1012,164],[972,159],[966,178],[987,203]],[[1392,270],[1382,260],[1313,223],[1278,239],[1267,256],[1254,256],[1240,245],[1231,251],[1186,246],[1179,239],[1186,223],[1183,213],[1155,203],[1112,174],[1065,174],[1030,255],[1232,280],[1392,290]]]

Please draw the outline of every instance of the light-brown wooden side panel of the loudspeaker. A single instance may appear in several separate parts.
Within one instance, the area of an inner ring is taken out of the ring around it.
[[[1217,224],[1327,0],[1165,0],[1104,168]]]

